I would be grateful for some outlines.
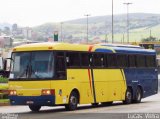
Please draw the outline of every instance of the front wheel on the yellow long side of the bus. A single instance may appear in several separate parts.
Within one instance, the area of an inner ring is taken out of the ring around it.
[[[65,105],[67,111],[73,111],[77,109],[78,105],[78,95],[76,92],[72,92],[69,97],[69,104]]]

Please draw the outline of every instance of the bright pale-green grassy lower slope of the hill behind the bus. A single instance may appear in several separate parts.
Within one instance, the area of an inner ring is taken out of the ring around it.
[[[147,38],[147,37],[150,37],[153,36],[153,37],[156,37],[157,40],[160,39],[160,25],[156,25],[156,26],[153,26],[153,27],[142,27],[142,28],[137,28],[137,29],[131,29],[129,31],[129,41],[130,42],[141,42],[142,39],[144,38]],[[104,40],[105,39],[105,35],[106,34],[103,34],[103,35],[97,35],[101,40]],[[81,39],[84,39],[84,37],[86,36],[86,32],[83,31],[83,32],[78,32],[78,33],[75,33],[74,35],[72,35],[74,37],[79,37]],[[96,36],[96,37],[97,37]],[[89,34],[89,40],[92,40],[94,39],[94,35],[92,34]],[[112,34],[107,34],[107,39],[109,40],[109,42],[111,42],[111,39],[112,39]],[[122,42],[124,39],[124,42],[127,42],[127,34],[126,33],[115,33],[114,34],[114,41],[115,42]],[[101,42],[101,41],[99,41]]]

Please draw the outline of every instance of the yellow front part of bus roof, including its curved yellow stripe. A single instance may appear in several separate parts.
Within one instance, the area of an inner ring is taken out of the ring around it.
[[[13,49],[14,52],[18,51],[38,51],[38,50],[62,50],[62,51],[95,51],[96,48],[102,48],[114,52],[112,48],[104,46],[94,46],[92,50],[90,47],[93,45],[82,45],[82,44],[70,44],[70,43],[55,43],[55,42],[44,42],[44,43],[32,43],[17,46]]]

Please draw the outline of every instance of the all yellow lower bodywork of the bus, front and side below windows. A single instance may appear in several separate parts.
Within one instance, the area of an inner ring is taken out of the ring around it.
[[[120,69],[95,69],[95,92],[97,102],[124,100],[126,83]],[[56,104],[68,103],[69,95],[73,89],[80,93],[80,103],[93,103],[88,69],[68,69],[68,80],[51,81],[11,81],[10,90],[17,90],[19,96],[40,96],[42,89],[55,89]],[[59,91],[62,90],[62,95]],[[66,102],[63,98],[66,97]]]

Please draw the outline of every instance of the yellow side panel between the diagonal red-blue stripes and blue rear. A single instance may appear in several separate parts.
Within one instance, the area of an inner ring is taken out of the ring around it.
[[[95,69],[97,102],[124,100],[126,83],[120,69]]]

